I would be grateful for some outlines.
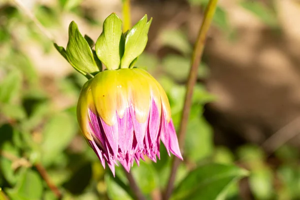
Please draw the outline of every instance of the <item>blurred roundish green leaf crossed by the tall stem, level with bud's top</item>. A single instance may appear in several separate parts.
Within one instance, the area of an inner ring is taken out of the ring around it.
[[[190,60],[189,58],[178,55],[167,55],[162,59],[163,69],[174,79],[184,81],[187,79]],[[199,64],[198,77],[205,77],[208,68],[204,64]]]

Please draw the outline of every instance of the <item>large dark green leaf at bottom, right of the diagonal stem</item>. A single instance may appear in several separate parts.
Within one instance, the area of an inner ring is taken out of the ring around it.
[[[210,163],[191,171],[175,188],[171,199],[224,199],[227,188],[247,175],[235,165]]]

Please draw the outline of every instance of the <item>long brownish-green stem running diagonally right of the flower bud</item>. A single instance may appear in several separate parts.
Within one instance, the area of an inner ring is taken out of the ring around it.
[[[185,100],[184,100],[184,105],[183,105],[183,110],[182,110],[182,115],[181,115],[180,128],[179,128],[179,132],[178,132],[178,142],[179,142],[179,147],[180,147],[181,152],[183,152],[183,147],[184,147],[184,138],[185,138],[186,127],[187,127],[190,106],[191,106],[191,101],[192,101],[193,87],[197,80],[198,66],[201,61],[207,31],[209,29],[209,26],[210,26],[210,23],[211,23],[213,14],[214,14],[216,4],[217,4],[217,0],[209,0],[208,4],[206,6],[204,18],[203,18],[201,27],[199,29],[198,37],[197,37],[196,43],[194,45],[194,49],[193,49],[192,56],[191,56],[191,67],[189,70],[188,80],[186,83]],[[180,159],[178,159],[177,157],[174,157],[174,159],[172,160],[170,176],[169,176],[166,190],[165,190],[164,196],[163,196],[164,200],[167,200],[172,193],[173,183],[175,180],[176,171],[177,171],[179,164],[180,164]]]

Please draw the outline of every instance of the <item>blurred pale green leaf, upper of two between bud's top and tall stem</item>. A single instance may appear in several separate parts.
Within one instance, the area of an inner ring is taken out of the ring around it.
[[[166,29],[159,36],[162,46],[169,46],[181,52],[184,55],[189,55],[192,46],[189,43],[187,36],[180,30]]]

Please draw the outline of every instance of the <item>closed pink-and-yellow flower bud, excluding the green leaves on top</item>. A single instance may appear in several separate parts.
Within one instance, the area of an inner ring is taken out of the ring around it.
[[[114,174],[119,161],[129,171],[143,155],[156,161],[160,140],[182,159],[170,106],[161,85],[145,70],[104,70],[82,87],[77,119],[83,135]]]

